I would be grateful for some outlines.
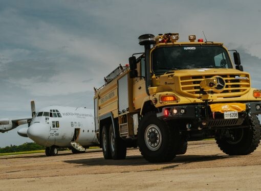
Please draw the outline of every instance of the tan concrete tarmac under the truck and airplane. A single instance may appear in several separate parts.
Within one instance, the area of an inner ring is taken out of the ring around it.
[[[0,157],[0,190],[261,190],[261,146],[228,156],[215,141],[189,142],[185,155],[149,163],[138,149],[125,160],[104,160],[101,150]]]

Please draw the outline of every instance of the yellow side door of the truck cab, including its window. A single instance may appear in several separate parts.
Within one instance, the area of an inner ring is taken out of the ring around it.
[[[140,109],[144,97],[147,96],[145,84],[145,58],[141,58],[137,64],[138,76],[133,79],[133,103],[135,109]]]

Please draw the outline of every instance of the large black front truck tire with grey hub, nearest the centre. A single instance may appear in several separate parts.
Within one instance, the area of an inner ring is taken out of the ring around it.
[[[180,139],[179,131],[159,120],[155,112],[142,117],[138,127],[138,145],[143,157],[149,162],[167,162],[176,156]]]

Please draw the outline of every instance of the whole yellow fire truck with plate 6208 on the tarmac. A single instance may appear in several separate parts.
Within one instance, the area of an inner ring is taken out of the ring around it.
[[[139,37],[133,54],[94,88],[95,129],[105,159],[124,159],[139,147],[149,162],[185,154],[188,140],[214,137],[228,155],[259,144],[261,90],[252,88],[240,55],[223,43],[178,33]],[[139,57],[136,58],[136,55]]]

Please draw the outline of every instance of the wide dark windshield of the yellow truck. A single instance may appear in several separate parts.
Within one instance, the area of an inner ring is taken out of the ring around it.
[[[154,73],[194,68],[232,68],[232,64],[221,46],[165,46],[152,53]]]

